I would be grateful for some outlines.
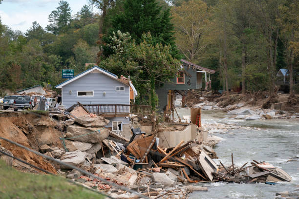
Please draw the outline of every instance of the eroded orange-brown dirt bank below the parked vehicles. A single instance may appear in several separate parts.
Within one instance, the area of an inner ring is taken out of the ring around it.
[[[43,144],[63,148],[59,139],[61,132],[55,129],[55,123],[48,116],[36,113],[1,113],[0,137],[10,139],[36,151]],[[56,173],[53,165],[34,153],[31,153],[10,142],[0,139],[0,144],[21,158],[51,173]]]

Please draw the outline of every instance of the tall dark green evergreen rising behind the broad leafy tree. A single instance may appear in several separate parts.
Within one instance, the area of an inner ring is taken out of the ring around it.
[[[176,56],[170,9],[162,11],[156,0],[124,0],[123,7],[123,12],[112,17],[109,35],[117,30],[128,32],[136,43],[140,43],[143,33],[150,33],[153,45],[171,45],[171,54]],[[109,42],[108,37],[105,42]]]

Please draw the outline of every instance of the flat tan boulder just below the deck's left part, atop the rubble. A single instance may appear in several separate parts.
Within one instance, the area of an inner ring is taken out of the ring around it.
[[[90,115],[84,115],[76,118],[75,122],[85,127],[101,127],[107,125],[109,120],[102,116],[90,117]]]

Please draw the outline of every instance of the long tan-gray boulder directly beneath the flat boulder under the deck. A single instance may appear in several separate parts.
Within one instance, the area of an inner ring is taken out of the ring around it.
[[[85,128],[78,125],[67,126],[66,138],[75,141],[97,143],[109,136],[106,128]]]

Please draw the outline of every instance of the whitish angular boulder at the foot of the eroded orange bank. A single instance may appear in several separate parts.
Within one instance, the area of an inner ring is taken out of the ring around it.
[[[85,162],[85,152],[82,151],[70,151],[65,152],[64,155],[60,158],[60,160],[64,163],[71,164],[73,166],[78,166]],[[66,165],[61,164],[61,168],[70,168]]]

